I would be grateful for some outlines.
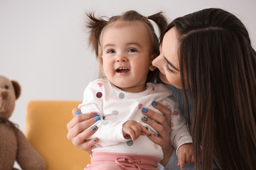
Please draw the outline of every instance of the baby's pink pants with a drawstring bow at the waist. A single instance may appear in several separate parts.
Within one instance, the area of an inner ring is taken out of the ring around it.
[[[157,157],[140,154],[119,154],[112,152],[92,153],[91,164],[87,164],[84,170],[159,170]]]

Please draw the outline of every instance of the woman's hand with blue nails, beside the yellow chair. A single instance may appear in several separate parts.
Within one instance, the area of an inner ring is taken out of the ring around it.
[[[72,113],[74,118],[67,125],[67,138],[73,142],[75,147],[79,147],[92,154],[92,146],[98,142],[98,138],[86,139],[97,131],[97,128],[90,128],[90,126],[99,120],[100,117],[95,116],[95,113],[80,114],[81,111],[79,108],[74,108]]]

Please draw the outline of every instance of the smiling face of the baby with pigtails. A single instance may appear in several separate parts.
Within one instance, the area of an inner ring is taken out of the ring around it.
[[[140,92],[151,65],[151,41],[138,21],[114,22],[102,35],[102,67],[107,79],[124,91]]]

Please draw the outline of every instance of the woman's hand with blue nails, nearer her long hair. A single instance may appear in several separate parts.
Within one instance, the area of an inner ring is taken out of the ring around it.
[[[171,145],[171,111],[169,108],[161,105],[161,103],[153,102],[152,106],[164,115],[159,115],[159,113],[151,111],[150,109],[143,108],[142,113],[147,117],[152,118],[153,120],[148,119],[145,121],[142,119],[142,121],[150,125],[159,133],[159,136],[151,135],[148,137],[152,142],[161,146],[164,152],[164,159],[162,159],[160,163],[163,166],[166,166],[166,164],[169,162],[169,159],[171,158],[172,153],[174,152],[174,147]]]

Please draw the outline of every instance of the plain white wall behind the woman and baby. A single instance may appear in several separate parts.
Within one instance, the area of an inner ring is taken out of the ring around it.
[[[85,85],[97,77],[83,29],[86,11],[100,16],[131,9],[144,16],[164,11],[171,21],[210,7],[238,16],[256,47],[255,0],[0,0],[0,74],[22,88],[11,120],[24,132],[28,101],[82,100]]]

